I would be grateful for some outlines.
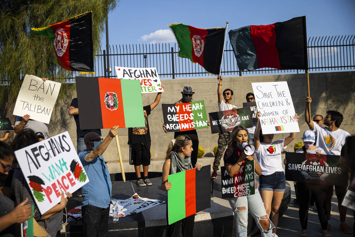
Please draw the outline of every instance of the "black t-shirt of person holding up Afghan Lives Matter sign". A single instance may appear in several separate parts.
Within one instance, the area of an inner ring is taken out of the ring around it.
[[[151,106],[143,107],[144,122],[146,126],[128,128],[128,144],[139,144],[151,142],[151,133],[149,132],[148,115],[151,114]]]

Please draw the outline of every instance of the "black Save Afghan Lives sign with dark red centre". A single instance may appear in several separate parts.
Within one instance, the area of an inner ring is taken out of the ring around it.
[[[344,186],[348,174],[339,165],[339,156],[286,152],[288,181]]]

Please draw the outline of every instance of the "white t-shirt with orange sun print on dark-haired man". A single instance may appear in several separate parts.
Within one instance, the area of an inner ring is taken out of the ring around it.
[[[313,121],[312,121],[313,122]],[[327,155],[340,155],[343,145],[350,133],[338,128],[336,131],[329,131],[313,122],[314,132],[317,136],[316,146],[321,147]]]

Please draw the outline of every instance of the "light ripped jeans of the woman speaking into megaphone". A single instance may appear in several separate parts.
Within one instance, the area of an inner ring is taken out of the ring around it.
[[[264,231],[261,227],[259,220],[265,219],[267,216],[264,203],[261,199],[260,193],[258,190],[255,190],[255,194],[250,196],[242,196],[238,198],[229,198],[230,206],[234,212],[235,218],[235,227],[236,227],[236,234],[240,237],[247,237],[248,232],[248,209],[250,211],[251,216],[255,219],[255,222],[258,228],[261,231],[261,236],[263,237],[272,237],[272,229],[275,227],[274,224],[271,222],[269,217],[269,229]],[[237,210],[237,208],[244,208],[245,210]]]

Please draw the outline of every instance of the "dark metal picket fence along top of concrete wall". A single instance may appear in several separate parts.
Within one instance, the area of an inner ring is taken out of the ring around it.
[[[310,37],[307,41],[309,72],[349,71],[355,69],[355,35]],[[129,68],[157,68],[160,78],[212,76],[199,64],[178,56],[177,43],[109,45],[109,54],[102,50],[95,56],[95,74],[99,77],[116,77],[115,66]],[[105,68],[111,69],[104,70]],[[225,43],[222,75],[242,76],[259,74],[304,73],[304,70],[278,70],[262,68],[240,71],[231,48]]]

